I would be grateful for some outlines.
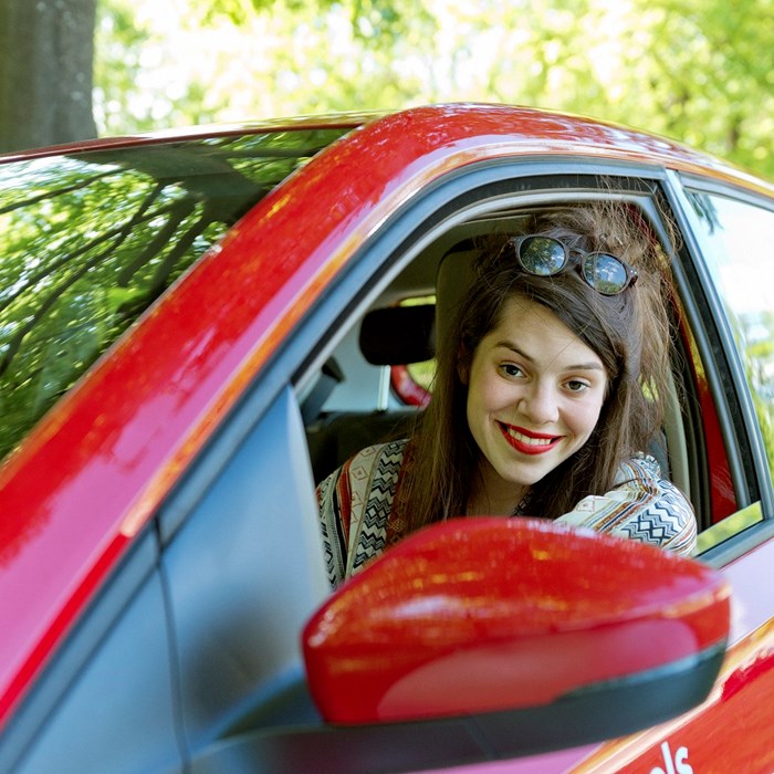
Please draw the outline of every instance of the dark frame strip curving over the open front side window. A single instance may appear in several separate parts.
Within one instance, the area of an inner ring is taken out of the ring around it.
[[[526,206],[533,197],[543,200],[545,196],[552,196],[568,201],[574,196],[587,199],[595,192],[604,196],[608,191],[596,184],[590,187],[578,184],[571,192],[559,181],[569,178],[593,181],[607,176],[632,186],[640,185],[640,194],[648,184],[651,186],[650,196],[663,171],[634,164],[600,165],[592,159],[493,159],[447,172],[404,200],[388,213],[378,231],[364,239],[351,260],[332,278],[321,297],[289,333],[283,346],[271,356],[257,379],[243,389],[231,412],[168,493],[159,508],[165,512],[165,523],[160,526],[161,545],[174,536],[192,504],[211,485],[283,387],[293,385],[300,400],[310,393],[322,366],[344,338],[352,322],[367,311],[379,292],[422,247],[437,238],[439,228],[446,230],[454,221],[467,220],[471,209],[481,207],[482,202],[485,208],[491,208],[492,199],[520,197],[523,199],[520,206]],[[509,185],[520,178],[548,180],[554,185],[523,191],[508,190]],[[488,189],[487,195],[481,194],[483,189]],[[239,421],[233,419],[237,415]]]

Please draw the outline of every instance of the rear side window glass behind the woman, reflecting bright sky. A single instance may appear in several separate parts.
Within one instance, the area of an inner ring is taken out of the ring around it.
[[[711,247],[707,266],[731,322],[774,475],[774,212],[723,196],[690,196]]]

